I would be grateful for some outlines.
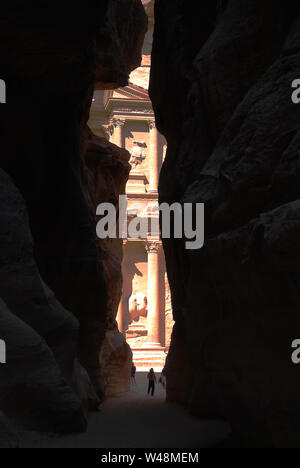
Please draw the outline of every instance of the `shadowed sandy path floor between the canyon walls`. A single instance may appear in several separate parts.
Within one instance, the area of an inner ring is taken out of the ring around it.
[[[86,433],[26,433],[21,448],[203,448],[215,446],[230,430],[221,421],[202,421],[186,409],[165,403],[165,390],[156,386],[148,397],[146,373],[138,372],[137,385],[110,398],[101,411],[91,413]]]

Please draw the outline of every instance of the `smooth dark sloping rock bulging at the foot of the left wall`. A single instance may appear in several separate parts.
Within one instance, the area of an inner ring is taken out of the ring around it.
[[[79,324],[43,284],[24,201],[3,171],[0,179],[1,409],[30,428],[83,430],[71,387]]]

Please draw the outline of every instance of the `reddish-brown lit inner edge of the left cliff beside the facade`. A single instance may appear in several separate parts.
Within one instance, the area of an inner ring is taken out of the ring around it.
[[[99,203],[112,203],[119,212],[119,195],[125,193],[130,165],[127,150],[88,131],[85,155],[86,177],[93,211]],[[117,229],[118,229],[117,218]],[[100,351],[100,364],[106,396],[116,396],[130,389],[132,353],[116,322],[122,295],[123,246],[120,239],[99,240],[103,276],[107,291],[106,332]]]

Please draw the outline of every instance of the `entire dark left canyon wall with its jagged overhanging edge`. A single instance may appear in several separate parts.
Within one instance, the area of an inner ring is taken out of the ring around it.
[[[0,337],[12,356],[0,367],[0,409],[33,427],[82,430],[83,408],[97,404],[90,380],[105,394],[107,330],[130,359],[114,322],[121,246],[99,243],[95,229],[95,203],[123,190],[129,155],[103,142],[95,151],[86,124],[95,85],[123,86],[139,65],[147,17],[140,0],[34,14],[20,3],[0,6]]]

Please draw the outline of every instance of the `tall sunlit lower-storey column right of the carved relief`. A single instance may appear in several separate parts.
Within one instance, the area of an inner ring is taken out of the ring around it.
[[[159,304],[159,251],[158,241],[147,241],[148,253],[148,336],[147,346],[161,348],[159,342],[160,304]]]

